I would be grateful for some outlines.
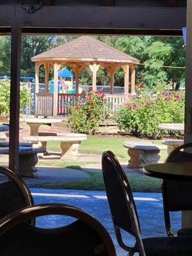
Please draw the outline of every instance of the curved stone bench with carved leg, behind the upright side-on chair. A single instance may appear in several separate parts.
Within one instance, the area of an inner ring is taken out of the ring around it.
[[[127,164],[128,168],[143,170],[147,164],[158,163],[160,150],[165,150],[166,146],[156,145],[152,141],[125,141],[124,147],[128,148],[127,153],[130,157]]]

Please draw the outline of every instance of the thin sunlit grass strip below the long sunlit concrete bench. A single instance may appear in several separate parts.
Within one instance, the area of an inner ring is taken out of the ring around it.
[[[72,161],[72,162],[64,162],[60,160],[54,160],[54,161],[46,161],[46,160],[39,160],[38,166],[52,166],[52,167],[60,167],[60,168],[71,168],[76,170],[82,170],[82,166],[86,164],[92,164],[95,162],[78,162],[78,161]]]

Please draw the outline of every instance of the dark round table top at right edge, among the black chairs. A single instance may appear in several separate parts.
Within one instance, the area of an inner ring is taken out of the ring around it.
[[[192,181],[191,162],[149,164],[143,173],[159,179]]]

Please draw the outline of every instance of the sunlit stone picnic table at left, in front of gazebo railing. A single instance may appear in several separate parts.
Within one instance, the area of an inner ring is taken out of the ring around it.
[[[38,136],[38,129],[43,124],[61,123],[61,119],[55,118],[20,118],[20,122],[26,122],[30,127],[30,136]]]

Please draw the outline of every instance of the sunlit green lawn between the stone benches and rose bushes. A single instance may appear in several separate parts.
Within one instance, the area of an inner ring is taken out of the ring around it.
[[[114,154],[122,159],[127,160],[127,149],[123,147],[123,142],[126,138],[102,138],[88,136],[86,141],[82,141],[79,147],[79,152],[88,154],[102,154],[106,150],[111,150]],[[139,140],[138,140],[139,142]],[[154,143],[161,144],[161,140],[156,140]],[[60,145],[58,142],[48,142],[48,151],[60,152]],[[161,161],[166,158],[166,150],[161,151]]]

